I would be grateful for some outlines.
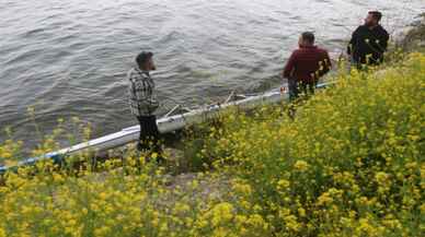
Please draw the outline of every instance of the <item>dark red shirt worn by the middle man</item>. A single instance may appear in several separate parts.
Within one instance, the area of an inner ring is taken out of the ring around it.
[[[326,50],[303,46],[295,50],[284,70],[284,78],[312,83],[326,74],[332,67]]]

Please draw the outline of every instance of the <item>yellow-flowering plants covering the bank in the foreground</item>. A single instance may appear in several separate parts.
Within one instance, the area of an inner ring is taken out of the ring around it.
[[[229,110],[188,135],[197,174],[181,183],[134,151],[7,174],[0,237],[423,236],[425,55],[337,76],[295,119],[286,105]],[[0,157],[21,146],[5,142]]]

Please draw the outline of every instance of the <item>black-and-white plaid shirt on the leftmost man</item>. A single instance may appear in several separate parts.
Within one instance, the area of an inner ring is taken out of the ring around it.
[[[154,82],[149,72],[134,68],[128,71],[127,76],[131,114],[136,117],[152,115],[159,107],[159,103],[153,94]]]

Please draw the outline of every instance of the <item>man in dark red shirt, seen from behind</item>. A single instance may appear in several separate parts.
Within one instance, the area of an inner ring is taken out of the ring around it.
[[[302,33],[298,44],[299,49],[292,52],[283,72],[288,79],[290,99],[298,97],[300,91],[314,94],[319,79],[332,67],[328,51],[314,46],[313,33]]]

